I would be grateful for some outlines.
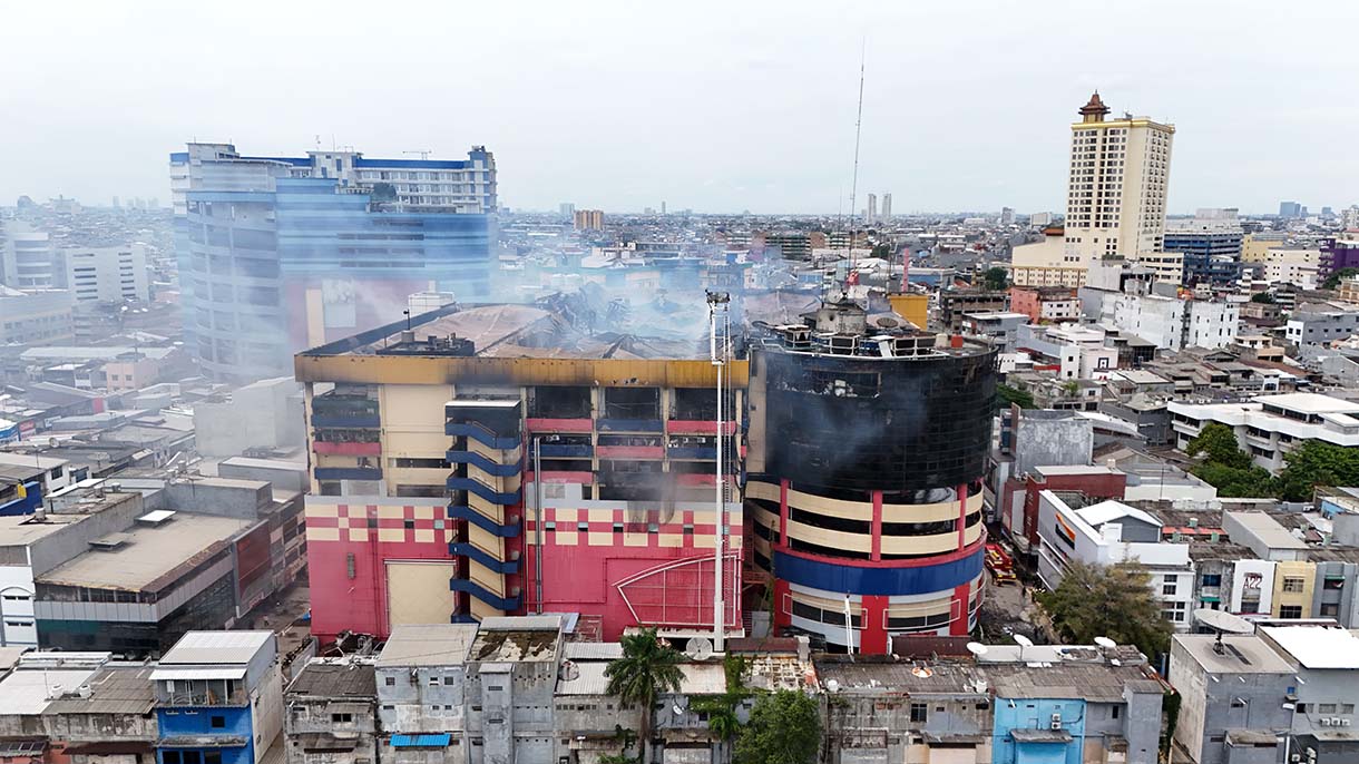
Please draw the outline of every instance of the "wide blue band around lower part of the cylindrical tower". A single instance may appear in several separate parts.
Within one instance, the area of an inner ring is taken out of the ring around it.
[[[775,575],[783,580],[822,591],[849,594],[905,595],[949,591],[981,575],[985,548],[966,557],[936,566],[858,567],[811,560],[775,551]]]

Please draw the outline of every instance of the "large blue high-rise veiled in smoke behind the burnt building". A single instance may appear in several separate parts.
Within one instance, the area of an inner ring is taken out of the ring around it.
[[[434,160],[192,143],[170,177],[185,334],[216,378],[288,374],[295,351],[400,319],[413,292],[489,292],[499,203],[484,147]]]

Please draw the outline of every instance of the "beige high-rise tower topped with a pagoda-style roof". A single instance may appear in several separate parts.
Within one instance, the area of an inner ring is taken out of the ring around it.
[[[1106,120],[1109,107],[1098,92],[1079,114],[1071,125],[1063,260],[1086,265],[1161,251],[1174,125],[1132,116]]]

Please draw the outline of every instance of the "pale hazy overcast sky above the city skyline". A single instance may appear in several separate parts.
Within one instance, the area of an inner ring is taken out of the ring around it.
[[[0,204],[166,155],[474,143],[522,208],[1061,209],[1093,87],[1174,122],[1170,211],[1359,203],[1359,3],[3,3]],[[332,139],[333,136],[333,139]]]

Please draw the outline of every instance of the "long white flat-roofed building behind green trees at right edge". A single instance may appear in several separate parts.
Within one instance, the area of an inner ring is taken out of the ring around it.
[[[1359,447],[1359,404],[1317,393],[1257,396],[1249,404],[1189,404],[1173,401],[1170,426],[1176,447],[1185,450],[1216,421],[1237,434],[1237,445],[1272,473],[1284,466],[1284,455],[1303,440]]]

